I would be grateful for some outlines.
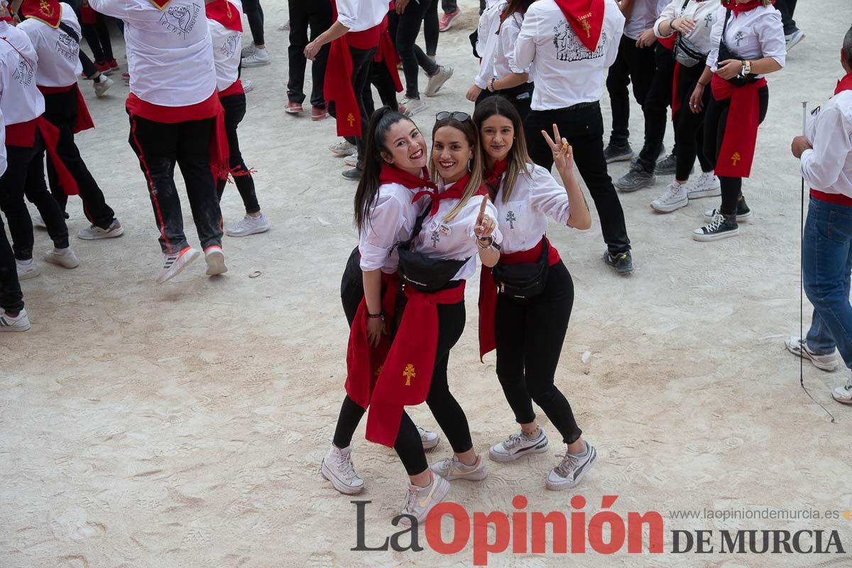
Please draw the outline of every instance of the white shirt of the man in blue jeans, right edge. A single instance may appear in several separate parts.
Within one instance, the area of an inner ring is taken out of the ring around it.
[[[841,91],[811,113],[802,153],[802,176],[811,187],[852,198],[852,91]]]

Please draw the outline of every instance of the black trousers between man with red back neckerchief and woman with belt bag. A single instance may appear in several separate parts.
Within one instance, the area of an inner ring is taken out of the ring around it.
[[[622,36],[619,55],[607,75],[607,91],[613,106],[613,132],[609,143],[626,146],[630,141],[630,94],[627,87],[632,81],[633,96],[642,106],[645,117],[645,143],[642,152],[639,152],[638,164],[649,172],[653,172],[657,165],[665,137],[665,106],[659,106],[659,100],[646,100],[656,70],[654,48],[637,48],[635,39]]]

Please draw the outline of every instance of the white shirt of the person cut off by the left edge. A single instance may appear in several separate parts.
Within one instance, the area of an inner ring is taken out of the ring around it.
[[[36,86],[38,55],[26,32],[0,22],[0,110],[5,124],[26,123],[44,113]],[[10,45],[11,44],[11,45]]]

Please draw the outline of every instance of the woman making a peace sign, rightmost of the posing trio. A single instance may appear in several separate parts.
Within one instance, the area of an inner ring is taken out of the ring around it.
[[[588,229],[589,205],[573,172],[572,147],[556,124],[553,139],[542,135],[564,187],[527,155],[521,117],[509,101],[503,97],[483,101],[476,107],[474,122],[480,130],[486,186],[503,233],[498,265],[482,269],[480,354],[497,349],[497,376],[515,422],[521,425],[521,432],[493,445],[489,456],[495,462],[513,462],[547,451],[547,436],[533,411],[535,401],[567,445],[545,486],[569,489],[588,472],[597,454],[582,439],[571,405],[554,385],[574,287],[544,233],[547,217],[563,226]]]

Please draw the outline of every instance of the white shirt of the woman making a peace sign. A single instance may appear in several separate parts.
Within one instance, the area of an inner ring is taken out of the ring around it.
[[[565,188],[541,166],[528,167],[530,173],[521,170],[518,174],[509,203],[503,203],[503,181],[494,199],[503,233],[500,252],[504,254],[530,250],[538,244],[547,232],[548,216],[560,225],[565,225],[571,216]]]

